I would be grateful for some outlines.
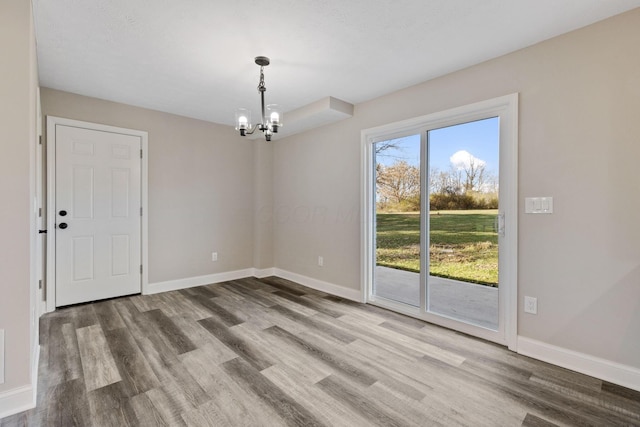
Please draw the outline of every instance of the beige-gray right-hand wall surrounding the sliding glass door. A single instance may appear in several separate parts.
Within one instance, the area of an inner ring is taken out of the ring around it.
[[[638,40],[640,9],[275,142],[276,266],[358,289],[361,129],[519,92],[519,206],[553,196],[555,210],[519,214],[519,334],[640,368]]]

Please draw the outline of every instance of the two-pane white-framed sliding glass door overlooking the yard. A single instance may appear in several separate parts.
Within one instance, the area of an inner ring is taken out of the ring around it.
[[[363,132],[369,303],[511,343],[517,207],[509,101]]]

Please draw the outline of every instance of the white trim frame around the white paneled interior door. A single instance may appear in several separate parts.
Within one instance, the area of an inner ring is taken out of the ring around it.
[[[71,126],[82,129],[90,129],[103,132],[120,133],[140,137],[142,158],[140,159],[140,203],[142,216],[140,224],[140,262],[142,263],[142,275],[140,291],[145,294],[149,287],[149,251],[148,251],[148,145],[149,134],[146,131],[126,129],[116,126],[84,122],[80,120],[65,119],[62,117],[47,116],[47,268],[46,268],[46,310],[56,309],[56,233],[55,233],[55,206],[56,206],[56,126]]]

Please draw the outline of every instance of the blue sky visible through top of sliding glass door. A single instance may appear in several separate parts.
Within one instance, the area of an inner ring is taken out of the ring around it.
[[[450,158],[457,151],[465,150],[486,162],[486,170],[498,174],[499,119],[497,117],[463,123],[429,131],[429,157],[431,167],[449,170]],[[420,135],[397,140],[400,150],[389,149],[379,153],[378,163],[391,165],[405,160],[412,165],[420,162]]]

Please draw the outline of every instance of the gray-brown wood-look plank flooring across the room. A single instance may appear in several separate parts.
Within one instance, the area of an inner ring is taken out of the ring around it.
[[[279,278],[57,310],[0,426],[640,425],[640,393]]]

